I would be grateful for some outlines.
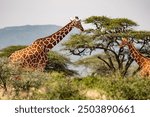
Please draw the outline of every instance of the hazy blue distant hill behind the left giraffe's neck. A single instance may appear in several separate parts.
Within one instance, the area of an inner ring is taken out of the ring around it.
[[[0,29],[0,49],[10,45],[29,45],[40,37],[51,35],[59,30],[57,25],[25,25]],[[71,33],[77,32],[73,30]],[[71,34],[70,33],[70,34]]]

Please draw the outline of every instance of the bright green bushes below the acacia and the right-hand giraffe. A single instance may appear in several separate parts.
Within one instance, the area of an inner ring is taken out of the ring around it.
[[[105,99],[146,100],[150,99],[150,79],[86,77],[76,79],[80,90],[95,89],[105,94]],[[79,85],[82,84],[82,85]]]

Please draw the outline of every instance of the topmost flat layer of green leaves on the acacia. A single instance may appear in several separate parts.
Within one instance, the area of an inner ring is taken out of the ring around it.
[[[103,30],[118,30],[127,29],[137,26],[137,23],[127,18],[108,18],[106,16],[91,16],[84,20],[85,23],[93,24],[96,29]]]

